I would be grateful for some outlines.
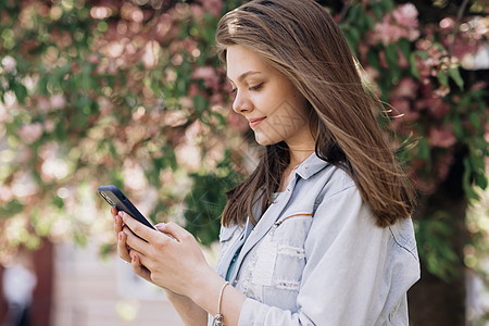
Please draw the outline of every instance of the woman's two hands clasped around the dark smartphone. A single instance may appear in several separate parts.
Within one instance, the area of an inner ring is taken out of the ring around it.
[[[118,216],[122,221],[116,222],[115,230],[122,228],[122,235],[118,233],[117,250],[123,260],[131,262],[137,275],[190,297],[199,280],[215,274],[197,240],[183,227],[175,223],[159,224],[155,231],[124,212],[118,212]]]

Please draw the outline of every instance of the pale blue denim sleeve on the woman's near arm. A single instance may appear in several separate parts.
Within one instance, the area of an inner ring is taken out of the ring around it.
[[[240,326],[381,325],[419,277],[417,255],[375,224],[354,186],[317,206],[304,249],[298,312],[248,298]]]

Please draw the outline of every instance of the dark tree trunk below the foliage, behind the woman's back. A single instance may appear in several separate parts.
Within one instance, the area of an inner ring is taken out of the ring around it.
[[[430,274],[423,264],[422,278],[409,292],[410,319],[412,326],[464,326],[465,325],[465,267],[463,249],[467,239],[465,214],[467,200],[462,187],[464,151],[455,155],[447,180],[440,185],[436,193],[421,198],[421,204],[414,218],[429,218],[439,211],[449,212],[453,246],[459,261],[455,266],[456,276],[449,283]]]

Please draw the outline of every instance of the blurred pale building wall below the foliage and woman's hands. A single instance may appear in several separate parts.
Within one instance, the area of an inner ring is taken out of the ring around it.
[[[184,325],[161,289],[98,249],[55,244],[52,326]]]

